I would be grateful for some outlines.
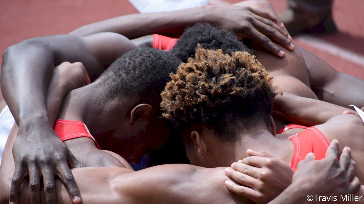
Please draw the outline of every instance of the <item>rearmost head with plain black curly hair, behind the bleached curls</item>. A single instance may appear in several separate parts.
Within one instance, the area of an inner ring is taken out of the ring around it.
[[[238,41],[236,34],[225,29],[216,28],[208,23],[198,23],[190,28],[186,28],[171,52],[182,62],[187,62],[189,57],[195,57],[197,44],[205,49],[221,49],[222,53],[225,54],[231,54],[236,51],[252,53],[252,50]]]

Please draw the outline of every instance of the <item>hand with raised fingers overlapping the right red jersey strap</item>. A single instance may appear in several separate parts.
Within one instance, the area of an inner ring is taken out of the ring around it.
[[[309,153],[297,166],[292,185],[297,185],[306,195],[346,195],[359,191],[360,181],[354,176],[355,162],[350,148],[344,147],[339,160],[339,143],[333,140],[326,151],[326,158],[315,160]]]

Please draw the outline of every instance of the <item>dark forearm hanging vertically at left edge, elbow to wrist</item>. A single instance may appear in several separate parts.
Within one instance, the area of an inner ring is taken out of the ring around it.
[[[53,59],[47,44],[23,42],[4,52],[1,91],[19,126],[35,120],[49,123],[46,93]]]

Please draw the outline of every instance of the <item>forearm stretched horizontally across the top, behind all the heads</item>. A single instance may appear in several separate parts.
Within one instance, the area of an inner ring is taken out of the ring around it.
[[[70,34],[88,36],[100,32],[114,32],[128,38],[153,33],[171,35],[182,33],[186,26],[198,22],[212,23],[213,9],[214,6],[208,5],[171,12],[136,13],[84,25]]]

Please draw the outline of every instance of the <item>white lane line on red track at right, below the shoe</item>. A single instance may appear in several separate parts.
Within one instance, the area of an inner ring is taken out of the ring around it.
[[[363,55],[352,52],[350,50],[340,48],[339,46],[331,44],[329,42],[325,42],[318,38],[315,38],[312,36],[307,36],[307,35],[301,35],[301,36],[294,37],[294,40],[301,41],[302,43],[312,46],[323,52],[330,53],[337,57],[343,58],[348,61],[352,61],[358,65],[364,66],[364,56]]]

